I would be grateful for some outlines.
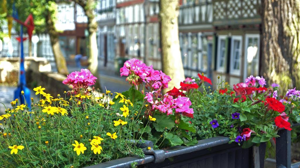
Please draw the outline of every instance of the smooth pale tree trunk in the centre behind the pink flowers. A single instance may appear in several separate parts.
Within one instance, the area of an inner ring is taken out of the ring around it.
[[[178,37],[178,0],[161,0],[161,49],[163,72],[171,77],[169,88],[165,91],[180,87],[184,80],[184,70],[181,60],[179,37]]]

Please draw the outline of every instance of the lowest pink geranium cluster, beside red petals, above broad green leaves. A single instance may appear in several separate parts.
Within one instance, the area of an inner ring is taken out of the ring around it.
[[[152,110],[157,109],[160,112],[170,115],[173,114],[173,109],[175,109],[176,113],[193,117],[194,111],[192,108],[190,108],[192,103],[190,102],[189,98],[178,96],[176,99],[173,99],[173,97],[168,93],[165,94],[163,98],[156,98],[153,96],[153,93],[157,93],[157,91],[148,92],[144,97],[144,99],[147,99],[147,101],[152,105]]]

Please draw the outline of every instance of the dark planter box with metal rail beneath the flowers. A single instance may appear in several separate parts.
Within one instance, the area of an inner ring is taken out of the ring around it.
[[[242,149],[237,143],[228,144],[227,137],[199,140],[195,146],[174,146],[166,150],[154,150],[145,158],[125,157],[85,168],[127,168],[132,163],[137,167],[178,168],[252,168],[254,164],[264,166],[265,144],[259,146],[256,155],[253,148]],[[259,154],[259,156],[258,156]],[[253,159],[256,158],[256,159]]]

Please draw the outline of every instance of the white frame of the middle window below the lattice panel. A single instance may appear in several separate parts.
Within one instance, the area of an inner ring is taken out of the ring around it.
[[[240,41],[240,48],[239,48],[239,69],[236,70],[234,69],[234,40],[238,40]],[[243,47],[243,43],[242,43],[242,36],[232,36],[231,37],[231,49],[230,49],[230,74],[234,74],[234,75],[241,75],[241,56],[242,56],[242,47]]]

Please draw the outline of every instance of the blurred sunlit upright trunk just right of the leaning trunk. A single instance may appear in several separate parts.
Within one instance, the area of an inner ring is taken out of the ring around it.
[[[97,46],[97,21],[94,14],[95,9],[95,0],[75,0],[77,4],[79,4],[85,15],[88,17],[88,49],[89,49],[89,58],[88,58],[88,69],[91,73],[97,77],[95,88],[99,88],[100,86],[100,76],[98,74],[98,46]],[[102,91],[102,90],[101,90]]]

